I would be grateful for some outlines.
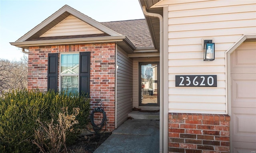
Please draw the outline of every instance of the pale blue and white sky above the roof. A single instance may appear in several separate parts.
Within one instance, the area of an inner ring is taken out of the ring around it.
[[[138,0],[0,0],[0,59],[19,61],[24,53],[10,42],[66,4],[98,22],[145,18]]]

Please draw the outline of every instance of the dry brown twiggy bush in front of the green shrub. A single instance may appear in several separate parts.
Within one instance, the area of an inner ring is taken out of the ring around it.
[[[68,108],[62,108],[63,113],[59,113],[57,124],[54,120],[50,123],[42,123],[37,120],[39,128],[35,129],[35,139],[32,143],[38,146],[42,153],[60,153],[66,150],[66,135],[72,131],[72,126],[78,124],[76,116],[79,114],[79,108],[73,108],[72,114],[68,114]],[[62,150],[62,148],[64,149]]]

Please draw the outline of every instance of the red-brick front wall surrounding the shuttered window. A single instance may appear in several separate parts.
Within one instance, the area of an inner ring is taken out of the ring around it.
[[[115,43],[30,47],[28,55],[28,90],[47,90],[48,53],[91,52],[91,108],[102,102],[107,116],[107,131],[114,130],[115,113]],[[59,79],[59,78],[58,78]],[[100,118],[102,114],[94,114]]]

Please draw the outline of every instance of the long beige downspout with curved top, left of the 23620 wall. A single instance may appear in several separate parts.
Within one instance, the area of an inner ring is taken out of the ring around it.
[[[142,6],[142,12],[144,13],[145,16],[152,17],[152,18],[158,18],[159,19],[159,24],[160,24],[160,152],[163,152],[163,147],[164,147],[164,102],[163,102],[163,17],[160,14],[156,13],[150,13],[146,11],[146,6]],[[165,150],[165,149],[164,149]]]

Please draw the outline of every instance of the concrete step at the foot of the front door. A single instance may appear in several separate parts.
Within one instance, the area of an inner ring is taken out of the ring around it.
[[[140,112],[132,111],[128,114],[129,117],[134,119],[147,119],[147,120],[159,120],[159,112]]]

